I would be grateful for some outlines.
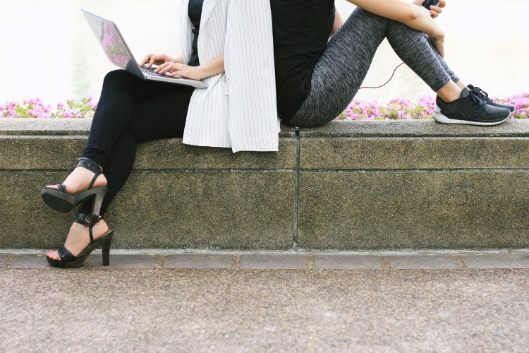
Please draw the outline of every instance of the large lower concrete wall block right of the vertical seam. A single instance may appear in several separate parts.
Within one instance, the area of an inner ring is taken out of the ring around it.
[[[525,171],[302,171],[302,249],[529,247]]]

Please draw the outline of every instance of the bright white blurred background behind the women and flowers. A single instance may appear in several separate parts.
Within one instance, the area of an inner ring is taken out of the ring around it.
[[[250,0],[248,0],[250,1]],[[0,0],[0,103],[41,97],[56,104],[67,98],[99,97],[107,61],[80,8],[114,20],[139,60],[149,52],[180,52],[178,0]],[[438,18],[446,32],[446,61],[467,83],[492,95],[529,90],[527,0],[448,0]],[[336,0],[346,18],[354,6]],[[386,82],[399,57],[384,41],[364,85]],[[406,66],[377,90],[356,97],[386,102],[417,99],[430,89]]]

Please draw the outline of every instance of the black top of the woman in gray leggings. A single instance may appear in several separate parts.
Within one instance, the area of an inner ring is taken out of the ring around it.
[[[327,48],[334,0],[270,0],[274,31],[277,109],[282,120],[296,114],[310,93],[310,80]]]

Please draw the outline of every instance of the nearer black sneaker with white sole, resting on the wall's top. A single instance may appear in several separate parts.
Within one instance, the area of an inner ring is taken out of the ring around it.
[[[442,124],[497,125],[511,115],[509,109],[487,104],[468,88],[463,88],[454,102],[444,102],[439,96],[436,102],[439,110],[434,112],[434,119]]]

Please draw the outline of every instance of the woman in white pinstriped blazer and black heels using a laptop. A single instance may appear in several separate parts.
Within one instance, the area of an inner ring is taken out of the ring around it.
[[[78,268],[99,246],[103,265],[109,264],[113,231],[102,216],[128,179],[138,143],[183,138],[233,152],[278,150],[269,0],[181,0],[180,20],[181,56],[149,54],[138,64],[208,87],[107,73],[77,166],[63,183],[42,189],[54,210],[80,205],[65,246],[47,253],[51,265]]]

